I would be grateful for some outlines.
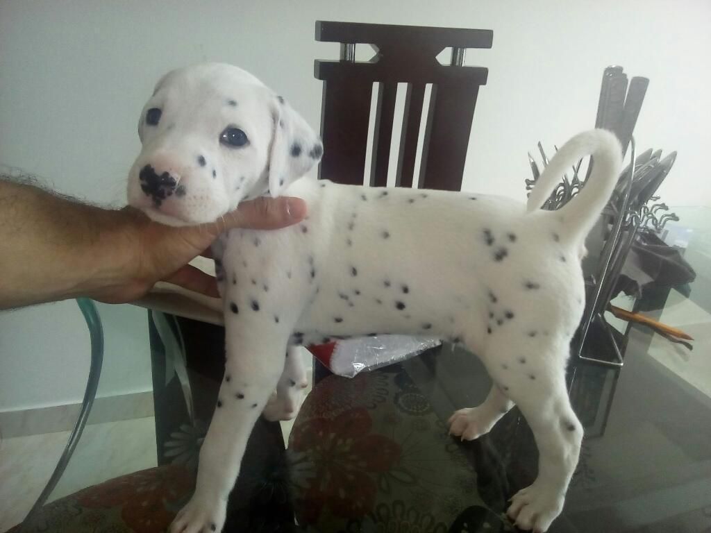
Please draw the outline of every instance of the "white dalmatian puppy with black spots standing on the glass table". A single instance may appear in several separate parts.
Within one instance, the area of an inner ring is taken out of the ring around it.
[[[587,131],[568,141],[528,205],[338,185],[301,178],[322,144],[282,97],[239,68],[203,64],[159,81],[139,136],[129,203],[154,220],[209,222],[260,195],[297,196],[309,209],[299,225],[230,230],[215,243],[225,376],[195,494],[171,532],[222,529],[257,417],[265,408],[272,418],[293,416],[298,407],[294,389],[305,375],[294,346],[371,333],[438,336],[481,358],[491,391],[451,416],[451,434],[477,438],[518,405],[540,458],[538,477],[513,496],[508,515],[522,529],[550,526],[583,434],[565,365],[584,308],[584,239],[621,167],[613,134]],[[564,169],[588,154],[594,167],[582,192],[561,210],[540,210]]]

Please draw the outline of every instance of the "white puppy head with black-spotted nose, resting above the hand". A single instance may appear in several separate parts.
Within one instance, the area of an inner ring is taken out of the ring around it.
[[[208,63],[166,74],[139,118],[129,204],[170,225],[213,222],[278,196],[321,158],[306,121],[260,80]]]

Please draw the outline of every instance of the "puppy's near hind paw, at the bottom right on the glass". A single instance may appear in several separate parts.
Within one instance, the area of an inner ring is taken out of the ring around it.
[[[563,509],[564,496],[542,485],[530,485],[511,498],[506,514],[520,529],[544,533]]]

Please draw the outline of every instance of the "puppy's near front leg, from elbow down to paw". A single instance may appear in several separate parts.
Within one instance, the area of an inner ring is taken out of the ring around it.
[[[225,328],[225,377],[200,451],[195,493],[171,533],[222,531],[247,439],[284,368],[287,329],[230,315]]]

